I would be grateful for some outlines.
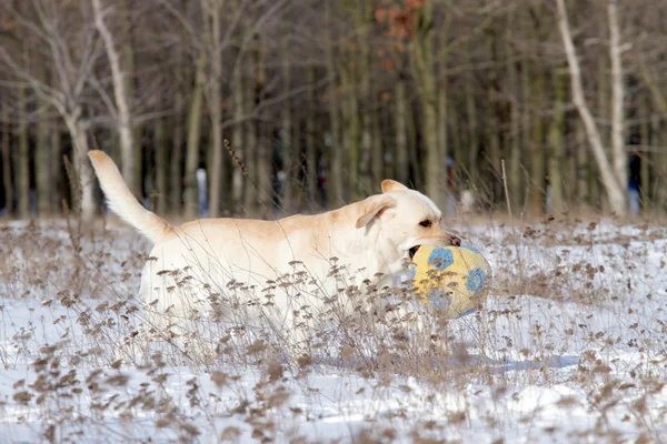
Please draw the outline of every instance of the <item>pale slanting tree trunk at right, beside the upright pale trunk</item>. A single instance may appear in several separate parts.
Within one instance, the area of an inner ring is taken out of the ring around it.
[[[593,114],[590,113],[590,109],[588,108],[588,104],[586,103],[586,98],[584,95],[584,85],[581,83],[581,69],[579,67],[579,60],[577,59],[575,44],[573,43],[573,38],[570,34],[567,11],[565,9],[565,0],[556,0],[556,3],[558,7],[558,28],[563,37],[563,43],[565,47],[565,52],[570,70],[573,102],[575,103],[575,107],[577,107],[577,110],[581,115],[581,120],[584,121],[586,134],[588,137],[588,142],[595,157],[596,163],[600,170],[603,184],[605,185],[605,191],[607,192],[607,199],[609,201],[611,210],[614,210],[619,215],[625,215],[627,212],[627,199],[625,192],[627,183],[620,183],[620,180],[623,178],[616,176],[616,168],[611,167],[609,159],[605,153],[605,148],[599,130],[597,128]],[[621,160],[618,160],[618,162],[620,164]]]

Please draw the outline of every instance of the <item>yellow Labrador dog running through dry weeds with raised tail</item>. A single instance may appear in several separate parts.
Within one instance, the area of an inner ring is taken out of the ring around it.
[[[332,274],[377,283],[381,275],[400,272],[419,245],[460,244],[442,228],[430,199],[392,180],[382,182],[382,194],[322,214],[205,219],[172,226],[139,204],[107,154],[91,151],[89,158],[111,211],[155,244],[142,272],[141,299],[177,317],[197,316],[211,297],[231,297],[242,287],[289,329],[299,310],[326,310],[332,295],[342,294]],[[319,294],[306,297],[280,289],[281,276],[306,274],[321,284]]]

